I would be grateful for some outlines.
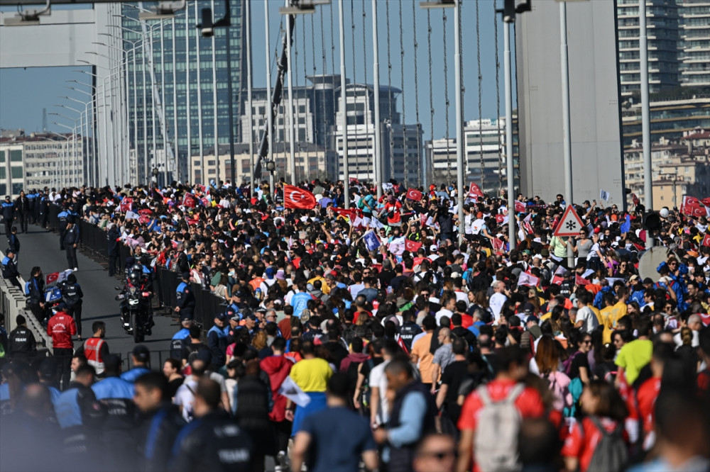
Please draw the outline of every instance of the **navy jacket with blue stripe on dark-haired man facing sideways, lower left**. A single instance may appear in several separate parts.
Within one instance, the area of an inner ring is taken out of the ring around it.
[[[180,410],[170,403],[146,415],[141,431],[138,432],[138,454],[143,465],[141,470],[165,471],[175,438],[183,426],[185,420],[182,420]]]

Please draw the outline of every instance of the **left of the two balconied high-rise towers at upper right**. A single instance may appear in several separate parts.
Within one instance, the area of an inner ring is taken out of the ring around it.
[[[677,0],[646,2],[648,88],[655,94],[679,86],[679,5]],[[621,96],[640,94],[639,0],[618,0],[619,79]]]

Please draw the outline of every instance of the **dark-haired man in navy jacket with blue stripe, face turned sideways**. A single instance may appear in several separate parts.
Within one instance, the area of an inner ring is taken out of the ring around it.
[[[143,426],[136,435],[140,470],[164,471],[175,438],[185,426],[178,406],[170,402],[168,378],[162,372],[138,377],[133,401],[143,415]]]

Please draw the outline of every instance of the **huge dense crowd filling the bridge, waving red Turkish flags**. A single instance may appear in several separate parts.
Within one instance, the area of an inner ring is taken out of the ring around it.
[[[138,344],[124,369],[95,322],[61,390],[10,333],[3,468],[709,470],[706,216],[648,230],[638,203],[584,201],[558,237],[562,195],[347,185],[51,193],[106,232],[110,276],[179,274],[176,332],[163,366]]]

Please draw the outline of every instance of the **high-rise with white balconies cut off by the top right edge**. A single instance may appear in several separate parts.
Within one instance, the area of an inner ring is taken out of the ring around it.
[[[679,0],[680,84],[710,87],[710,0]]]

